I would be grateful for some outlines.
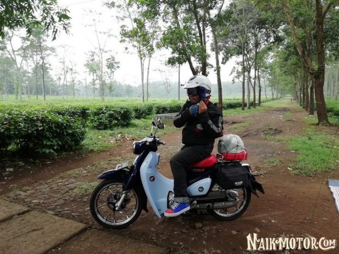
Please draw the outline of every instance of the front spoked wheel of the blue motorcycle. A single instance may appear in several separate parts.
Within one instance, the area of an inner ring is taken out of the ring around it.
[[[124,228],[132,224],[140,215],[142,207],[138,192],[131,189],[119,210],[115,204],[122,196],[125,183],[117,180],[102,181],[94,189],[90,199],[93,218],[107,228]]]

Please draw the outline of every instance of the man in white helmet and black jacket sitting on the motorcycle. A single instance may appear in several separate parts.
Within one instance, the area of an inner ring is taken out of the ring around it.
[[[184,146],[169,161],[174,178],[174,202],[165,211],[174,217],[189,210],[186,168],[207,158],[214,140],[223,135],[223,117],[220,110],[209,101],[211,82],[206,76],[194,75],[185,84],[188,100],[174,117],[175,127],[182,131]]]

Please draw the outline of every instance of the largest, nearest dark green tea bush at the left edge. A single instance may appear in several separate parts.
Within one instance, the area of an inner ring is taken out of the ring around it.
[[[26,155],[55,155],[74,150],[85,134],[71,117],[25,109],[0,112],[0,153],[14,149]]]

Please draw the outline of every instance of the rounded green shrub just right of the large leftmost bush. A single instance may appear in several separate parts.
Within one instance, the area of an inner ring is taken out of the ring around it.
[[[129,107],[99,106],[92,111],[90,122],[95,129],[112,129],[129,126],[132,115],[132,109]]]

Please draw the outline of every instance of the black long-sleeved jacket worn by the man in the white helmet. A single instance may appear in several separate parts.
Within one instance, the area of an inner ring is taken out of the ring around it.
[[[189,114],[192,104],[188,100],[179,114],[174,117],[175,127],[183,127],[182,142],[185,145],[212,145],[214,140],[222,135],[223,117],[220,110],[211,102],[207,104],[207,111],[197,117]]]

